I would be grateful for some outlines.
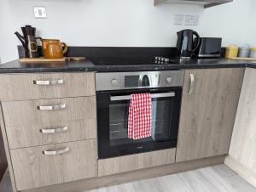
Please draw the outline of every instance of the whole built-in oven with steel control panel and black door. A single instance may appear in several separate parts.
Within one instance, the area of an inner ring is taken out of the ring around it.
[[[177,146],[184,71],[96,73],[99,159]],[[150,93],[151,137],[128,138],[131,94]]]

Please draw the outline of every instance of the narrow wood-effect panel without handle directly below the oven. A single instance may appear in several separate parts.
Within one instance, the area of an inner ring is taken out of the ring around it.
[[[119,172],[131,172],[138,169],[157,167],[175,162],[176,148],[156,150],[136,155],[125,155],[98,161],[98,176]]]

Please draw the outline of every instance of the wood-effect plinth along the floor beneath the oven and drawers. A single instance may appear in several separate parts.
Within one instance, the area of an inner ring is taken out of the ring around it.
[[[119,173],[111,176],[104,176],[100,178],[89,178],[84,180],[79,180],[75,182],[70,182],[66,184],[55,184],[52,186],[29,189],[22,192],[80,192],[91,189],[97,189],[102,187],[107,187],[111,185],[124,184],[131,181],[142,180],[146,178],[160,177],[176,172],[186,172],[203,167],[211,167],[214,165],[219,165],[224,163],[225,155],[218,155],[213,157],[208,157],[195,161],[185,161],[172,163],[160,167],[152,167],[142,170],[137,170],[134,172]]]

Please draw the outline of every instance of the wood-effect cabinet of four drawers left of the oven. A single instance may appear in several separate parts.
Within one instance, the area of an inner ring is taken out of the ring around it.
[[[3,74],[0,90],[14,191],[97,176],[94,72]]]

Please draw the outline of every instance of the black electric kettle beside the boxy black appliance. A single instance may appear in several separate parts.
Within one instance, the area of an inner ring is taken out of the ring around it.
[[[194,38],[195,36],[195,38]],[[200,36],[196,31],[183,30],[177,32],[177,57],[191,59],[192,54],[200,46]]]

